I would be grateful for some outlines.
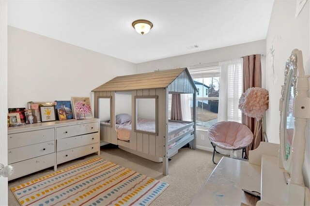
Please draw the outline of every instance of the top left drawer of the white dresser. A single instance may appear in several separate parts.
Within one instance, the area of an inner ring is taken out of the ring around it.
[[[55,139],[54,128],[8,134],[8,149],[33,145]]]

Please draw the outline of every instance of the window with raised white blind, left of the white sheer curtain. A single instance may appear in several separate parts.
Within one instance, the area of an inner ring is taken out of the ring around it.
[[[217,123],[220,84],[218,63],[191,67],[189,68],[189,73],[198,89],[196,98],[196,125],[209,128]],[[199,94],[200,96],[198,96]],[[191,116],[193,111],[192,100],[193,95],[190,95]]]

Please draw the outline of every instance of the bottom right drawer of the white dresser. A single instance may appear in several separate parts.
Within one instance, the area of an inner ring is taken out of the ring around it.
[[[83,147],[76,147],[72,149],[63,150],[57,152],[57,164],[62,162],[67,162],[69,160],[76,159],[78,157],[82,157],[88,154],[92,154],[99,150],[99,144],[95,143],[92,145],[87,145]]]

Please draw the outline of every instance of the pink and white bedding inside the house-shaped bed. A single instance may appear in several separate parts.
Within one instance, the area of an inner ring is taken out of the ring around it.
[[[103,124],[107,124],[107,122],[101,122]],[[168,124],[168,132],[174,131],[180,127],[186,126],[186,123],[180,122],[169,122]],[[131,133],[131,121],[125,122],[123,124],[115,124],[115,129],[117,131],[117,138],[123,141],[130,140],[130,133]],[[193,129],[193,127],[186,128],[180,132],[173,133],[172,135],[168,136],[168,141],[174,139],[175,137]],[[137,130],[142,130],[146,132],[155,132],[155,120],[154,119],[147,119],[147,118],[138,118],[137,121]],[[176,143],[172,143],[169,145],[169,148],[173,147]]]

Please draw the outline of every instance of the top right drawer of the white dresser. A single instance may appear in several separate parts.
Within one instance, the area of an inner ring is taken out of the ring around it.
[[[98,122],[58,127],[56,128],[56,138],[61,139],[92,132],[98,132]]]

